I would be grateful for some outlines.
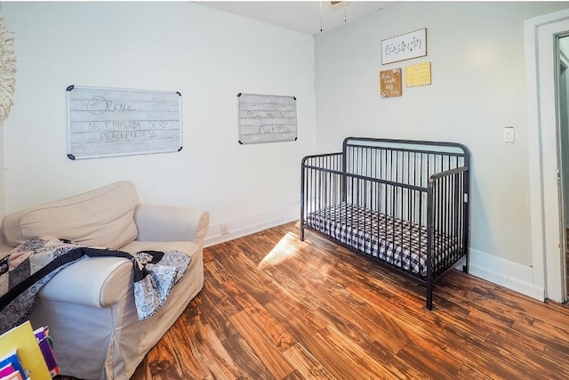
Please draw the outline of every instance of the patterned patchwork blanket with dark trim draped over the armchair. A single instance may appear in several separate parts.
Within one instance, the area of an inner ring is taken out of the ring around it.
[[[36,304],[37,292],[59,271],[85,256],[132,261],[134,301],[140,320],[156,314],[191,263],[191,257],[180,251],[130,255],[56,238],[28,239],[0,260],[0,333],[25,321]]]

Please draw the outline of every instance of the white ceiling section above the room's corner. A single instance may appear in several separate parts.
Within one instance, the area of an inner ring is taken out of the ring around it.
[[[397,2],[348,1],[332,4],[330,1],[196,1],[195,3],[314,36],[320,33],[321,25],[324,31],[344,25],[344,8],[345,20],[349,24]]]

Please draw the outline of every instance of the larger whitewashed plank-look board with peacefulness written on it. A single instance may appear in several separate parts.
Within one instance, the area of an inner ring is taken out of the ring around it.
[[[182,149],[181,94],[70,85],[68,158]]]

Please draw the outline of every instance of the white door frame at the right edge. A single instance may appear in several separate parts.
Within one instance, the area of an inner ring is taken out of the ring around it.
[[[550,89],[556,88],[555,36],[569,30],[560,29],[567,20],[569,9],[524,22],[533,285],[543,289],[544,299],[560,303],[566,297],[560,247],[563,215],[556,178],[560,170],[556,91]]]

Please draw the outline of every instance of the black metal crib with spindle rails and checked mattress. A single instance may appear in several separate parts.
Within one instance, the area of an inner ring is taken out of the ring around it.
[[[301,167],[306,229],[433,287],[469,268],[469,150],[459,143],[349,137]]]

